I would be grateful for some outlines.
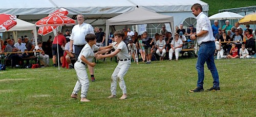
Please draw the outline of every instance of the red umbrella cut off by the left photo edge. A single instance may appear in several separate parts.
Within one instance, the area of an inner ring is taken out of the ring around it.
[[[0,33],[8,31],[16,24],[15,15],[0,14]]]

